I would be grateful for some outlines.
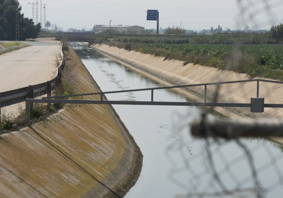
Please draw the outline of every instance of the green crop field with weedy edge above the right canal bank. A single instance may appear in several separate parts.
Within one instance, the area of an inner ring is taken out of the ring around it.
[[[211,66],[251,77],[260,76],[283,81],[282,44],[165,44],[138,42],[107,42],[107,45]]]

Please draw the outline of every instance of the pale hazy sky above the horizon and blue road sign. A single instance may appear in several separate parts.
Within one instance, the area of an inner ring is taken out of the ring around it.
[[[32,18],[32,5],[36,0],[19,0],[22,13]],[[159,11],[159,27],[173,25],[200,31],[217,28],[223,30],[270,29],[283,23],[283,0],[42,0],[47,4],[46,21],[57,24],[66,31],[69,28],[90,30],[93,25],[139,25],[155,28],[156,21],[146,20],[146,11]],[[34,9],[36,16],[36,6]],[[42,21],[44,8],[42,5]],[[38,22],[40,22],[40,0],[38,0]]]

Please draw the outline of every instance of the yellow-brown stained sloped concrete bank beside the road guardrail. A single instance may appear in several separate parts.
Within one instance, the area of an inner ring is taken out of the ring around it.
[[[68,56],[80,92],[100,92],[70,46]],[[123,197],[142,164],[140,149],[106,105],[67,107],[49,121],[3,134],[0,150],[0,197],[9,198]]]

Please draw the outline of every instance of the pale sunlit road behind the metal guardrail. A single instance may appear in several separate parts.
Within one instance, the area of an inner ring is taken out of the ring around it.
[[[0,55],[0,92],[36,85],[55,77],[54,63],[56,55],[61,58],[61,44],[28,43],[32,46]]]

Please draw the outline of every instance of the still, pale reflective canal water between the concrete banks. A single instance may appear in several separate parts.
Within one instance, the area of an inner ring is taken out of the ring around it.
[[[81,43],[71,45],[104,92],[168,86]],[[106,97],[149,101],[151,92],[124,92]],[[176,90],[158,90],[154,92],[154,101],[191,99]],[[143,153],[140,177],[125,197],[233,197],[235,192],[238,195],[235,197],[282,195],[280,145],[262,138],[238,141],[194,138],[190,135],[190,122],[200,118],[204,109],[199,107],[113,107]],[[217,113],[209,116],[222,117]],[[223,195],[224,190],[231,194]]]

